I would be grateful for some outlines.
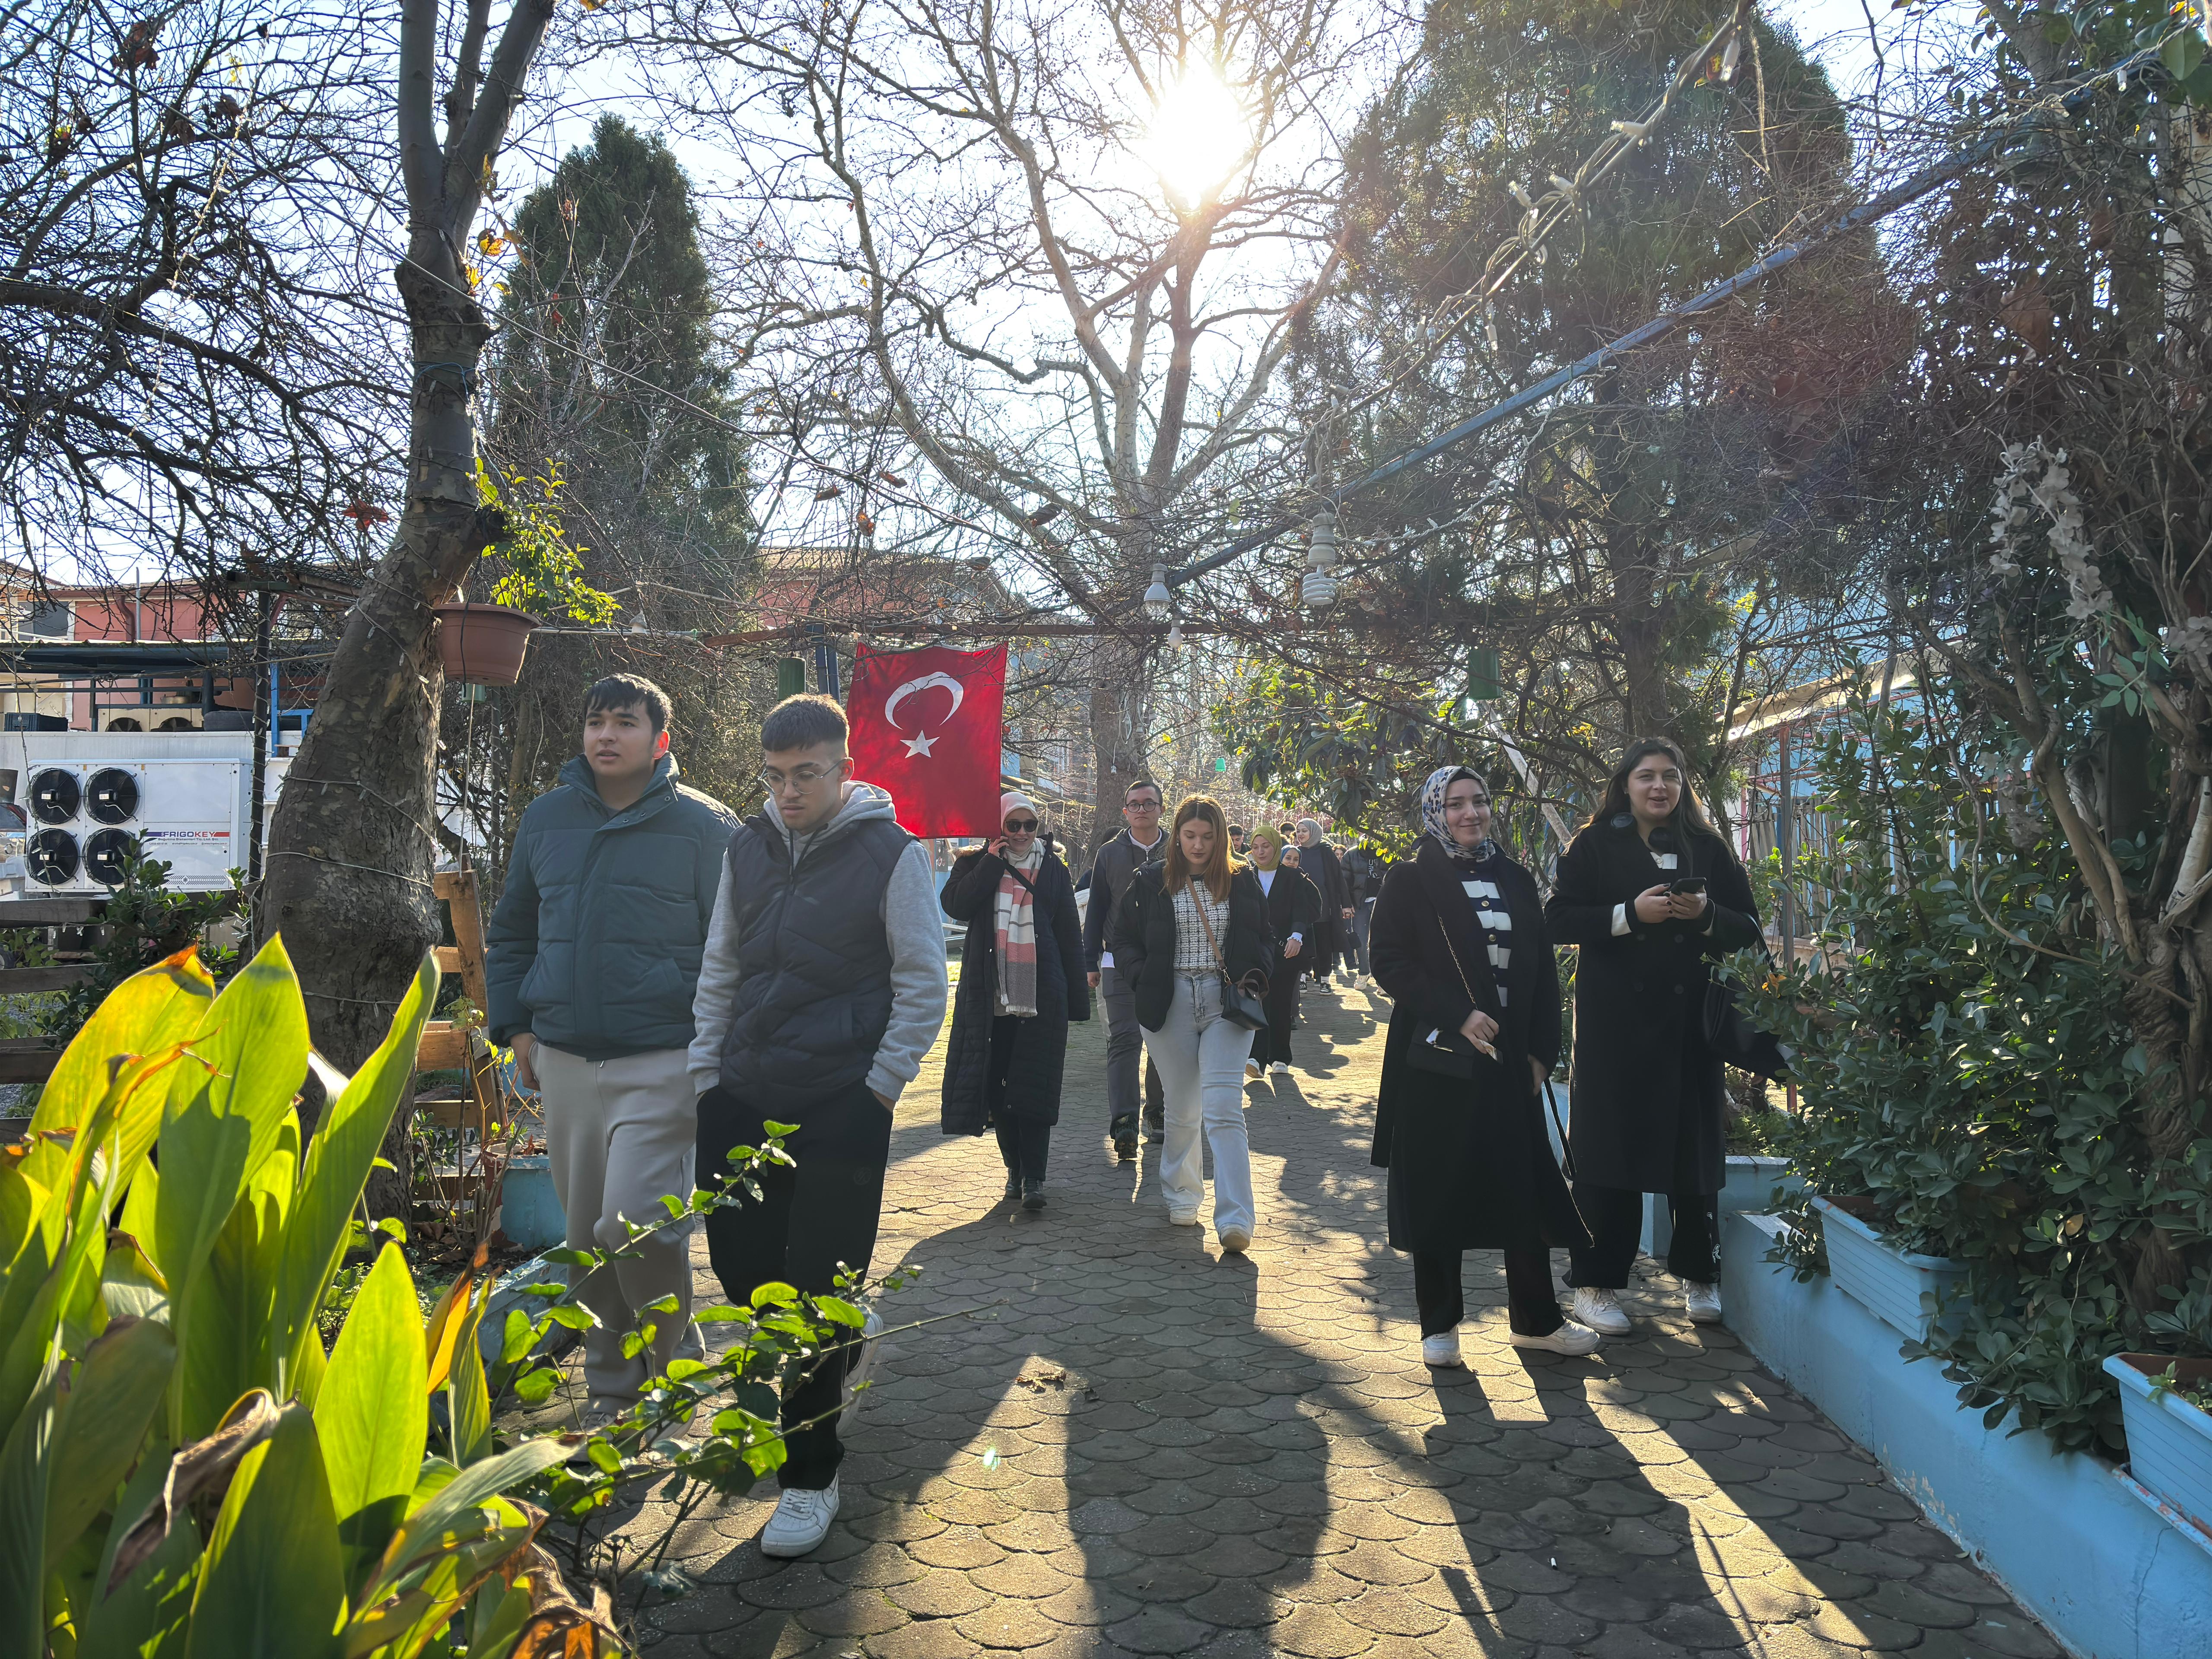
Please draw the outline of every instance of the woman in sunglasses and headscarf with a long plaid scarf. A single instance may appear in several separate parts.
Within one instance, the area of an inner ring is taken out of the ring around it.
[[[947,1135],[993,1128],[1006,1201],[1042,1210],[1068,1020],[1091,1018],[1091,982],[1075,883],[1037,834],[1035,803],[1009,792],[998,814],[1002,834],[953,860],[940,898],[967,922],[940,1121]]]

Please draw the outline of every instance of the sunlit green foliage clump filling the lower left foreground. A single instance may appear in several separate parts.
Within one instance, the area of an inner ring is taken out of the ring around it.
[[[697,1506],[783,1460],[776,1385],[854,1340],[849,1298],[765,1285],[708,1310],[737,1325],[721,1358],[675,1363],[588,1438],[509,1444],[500,1400],[544,1400],[544,1338],[593,1323],[566,1285],[511,1312],[487,1365],[482,1254],[427,1318],[396,1241],[341,1283],[376,1243],[361,1192],[436,993],[425,958],[354,1077],[312,1060],[332,1104],[303,1146],[307,1015],[283,945],[221,993],[179,951],[108,995],[0,1148],[0,1652],[613,1652],[611,1606],[566,1590],[546,1522],[573,1522],[573,1557],[597,1566],[593,1517],[644,1482]],[[757,1197],[761,1159],[787,1161],[779,1141],[748,1152],[737,1190],[670,1194],[624,1248]],[[615,1254],[564,1259],[582,1281]],[[719,1409],[684,1438],[701,1407]]]

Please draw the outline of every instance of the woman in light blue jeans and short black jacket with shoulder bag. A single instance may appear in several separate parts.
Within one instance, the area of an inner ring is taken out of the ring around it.
[[[1239,1071],[1252,1033],[1223,1015],[1223,991],[1276,962],[1267,898],[1252,867],[1230,854],[1228,818],[1203,794],[1175,810],[1164,858],[1128,880],[1113,922],[1113,951],[1137,1002],[1144,1046],[1168,1088],[1168,1144],[1159,1190],[1168,1221],[1199,1223],[1206,1155],[1214,1155],[1214,1237],[1252,1248],[1252,1146]]]

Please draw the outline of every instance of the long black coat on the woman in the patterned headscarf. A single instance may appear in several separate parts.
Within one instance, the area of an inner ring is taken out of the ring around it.
[[[1559,1060],[1559,971],[1544,936],[1544,902],[1511,858],[1489,872],[1513,916],[1504,1006],[1482,925],[1460,885],[1467,865],[1433,836],[1391,865],[1367,927],[1369,967],[1391,998],[1369,1157],[1389,1170],[1394,1250],[1586,1243],[1528,1073],[1531,1057],[1546,1066]],[[1478,1055],[1473,1079],[1407,1057],[1431,1031],[1455,1033],[1475,1009],[1498,1022],[1498,1060]]]

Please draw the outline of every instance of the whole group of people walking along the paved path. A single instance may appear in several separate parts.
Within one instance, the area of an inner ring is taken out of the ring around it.
[[[807,1294],[867,1272],[891,1113],[947,1013],[942,918],[962,922],[942,1128],[995,1135],[1004,1199],[1046,1206],[1068,1024],[1106,1018],[1108,1137],[1161,1144],[1172,1225],[1225,1254],[1259,1230],[1248,1077],[1290,1066],[1301,978],[1343,956],[1389,998],[1374,1164],[1389,1243],[1413,1256],[1422,1358],[1460,1363],[1467,1250],[1502,1250],[1522,1347],[1586,1354],[1628,1329],[1646,1192],[1668,1197],[1668,1270],[1694,1321],[1719,1318],[1714,1221],[1721,1066],[1703,1042],[1710,962],[1759,940],[1750,883],[1712,830],[1679,750],[1630,748],[1559,858],[1551,900],[1491,836],[1482,774],[1442,768],[1409,858],[1338,856],[1318,823],[1232,827],[1208,796],[1161,825],[1159,787],[1124,794],[1124,830],[1077,905],[1026,794],[938,889],[880,787],[852,779],[843,710],[790,697],[761,728],[761,812],[739,821],[677,781],[668,699],[615,675],[591,688],[584,752],[515,834],[487,929],[489,1033],[540,1091],[568,1245],[622,1245],[628,1219],[794,1124],[792,1164],[706,1217],[723,1294]],[[1562,1004],[1553,945],[1579,945],[1571,1161],[1546,1133]],[[1548,1252],[1571,1254],[1564,1312]],[[606,1422],[668,1363],[703,1352],[688,1241],[648,1234],[577,1298],[588,1420]],[[637,1310],[675,1307],[637,1340]],[[838,1511],[838,1416],[872,1358],[874,1314],[785,1378],[783,1498],[768,1555],[805,1555]]]

